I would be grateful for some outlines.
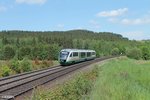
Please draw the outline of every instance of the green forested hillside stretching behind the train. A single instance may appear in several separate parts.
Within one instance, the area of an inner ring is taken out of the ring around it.
[[[71,31],[1,31],[0,60],[28,57],[31,60],[56,60],[63,48],[94,49],[97,56],[136,55],[150,58],[150,41],[131,41],[112,32]],[[134,53],[132,53],[134,52]]]

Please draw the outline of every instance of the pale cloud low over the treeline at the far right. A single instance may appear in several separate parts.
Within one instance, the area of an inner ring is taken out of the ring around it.
[[[133,31],[133,32],[122,32],[121,33],[124,37],[128,37],[130,40],[143,40],[143,39],[150,39],[143,31]]]

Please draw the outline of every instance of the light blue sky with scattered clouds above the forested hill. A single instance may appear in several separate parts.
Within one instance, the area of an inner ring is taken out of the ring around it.
[[[0,0],[0,31],[113,32],[150,39],[150,0]]]

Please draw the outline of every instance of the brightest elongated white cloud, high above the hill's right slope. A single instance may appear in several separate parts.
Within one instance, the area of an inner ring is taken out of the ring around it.
[[[111,11],[102,11],[97,14],[98,17],[116,17],[121,16],[128,11],[128,8],[120,8]]]

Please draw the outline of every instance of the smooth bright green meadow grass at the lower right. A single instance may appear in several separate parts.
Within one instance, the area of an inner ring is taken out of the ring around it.
[[[90,100],[150,100],[150,61],[118,58],[99,67]]]

